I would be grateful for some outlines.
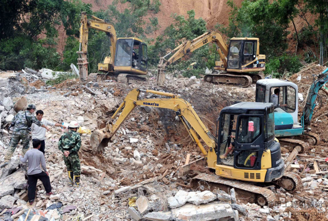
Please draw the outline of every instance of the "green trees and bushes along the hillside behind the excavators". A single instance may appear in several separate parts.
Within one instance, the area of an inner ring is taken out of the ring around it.
[[[96,0],[97,4],[100,4]],[[95,15],[113,23],[118,37],[138,37],[148,43],[148,64],[157,66],[159,58],[185,40],[192,40],[207,31],[207,23],[195,18],[193,10],[187,16],[173,14],[172,24],[156,39],[147,38],[158,29],[156,14],[159,0],[114,0],[105,10],[93,12],[90,4],[81,0],[12,0],[2,1],[0,7],[0,69],[18,70],[50,68],[69,70],[77,62],[80,12]],[[120,7],[122,6],[122,7]],[[227,27],[216,26],[228,37],[258,37],[260,54],[267,57],[265,74],[281,77],[294,73],[305,62],[327,60],[328,16],[325,0],[245,0],[240,7],[228,0],[231,9]],[[314,16],[310,23],[306,15]],[[296,29],[295,19],[305,26]],[[57,53],[58,27],[67,34],[63,55]],[[292,27],[294,48],[289,48],[289,27]],[[110,39],[103,32],[90,30],[88,52],[89,71],[110,55]],[[298,55],[298,56],[297,56]],[[215,65],[216,47],[209,44],[186,55],[171,65],[172,70],[185,70],[183,75],[198,76],[206,67]],[[192,70],[187,67],[196,62]],[[66,77],[61,77],[64,79]]]

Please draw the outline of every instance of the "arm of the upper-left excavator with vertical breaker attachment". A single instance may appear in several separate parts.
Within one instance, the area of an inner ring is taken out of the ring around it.
[[[93,19],[88,19],[87,13],[81,13],[81,26],[80,26],[80,37],[79,37],[79,51],[77,64],[79,69],[79,75],[81,80],[88,79],[88,36],[89,36],[89,28],[96,29],[101,32],[105,32],[111,41],[110,51],[112,57],[115,56],[116,52],[116,32],[113,24],[104,21],[103,19],[97,18],[95,16],[91,16]],[[114,64],[114,60],[111,60],[111,64]]]

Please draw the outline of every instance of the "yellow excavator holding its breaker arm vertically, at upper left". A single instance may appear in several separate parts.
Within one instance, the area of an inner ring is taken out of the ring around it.
[[[147,44],[138,38],[117,38],[113,24],[95,16],[91,17],[92,19],[88,19],[86,12],[81,13],[80,45],[77,52],[80,79],[93,82],[107,79],[122,83],[145,81],[141,76],[147,75]],[[100,73],[91,73],[88,76],[89,28],[105,32],[110,38],[111,56],[106,56],[102,63],[98,63]]]

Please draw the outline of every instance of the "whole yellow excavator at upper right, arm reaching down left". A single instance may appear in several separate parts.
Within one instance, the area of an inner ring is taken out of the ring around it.
[[[160,58],[157,84],[162,86],[165,82],[167,66],[210,42],[216,44],[216,52],[219,54],[220,60],[215,61],[214,69],[217,72],[206,75],[204,81],[239,84],[242,87],[248,87],[252,82],[256,83],[264,77],[262,73],[259,73],[265,70],[265,55],[260,55],[259,53],[260,43],[258,38],[231,38],[228,45],[220,33],[210,31],[191,41],[183,42],[174,48],[172,52]],[[165,58],[171,54],[173,55],[166,60]]]

